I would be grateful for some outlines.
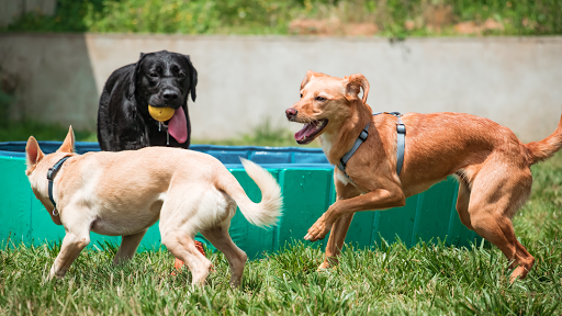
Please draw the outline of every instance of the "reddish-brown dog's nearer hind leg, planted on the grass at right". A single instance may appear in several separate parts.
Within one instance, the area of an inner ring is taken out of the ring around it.
[[[525,279],[535,264],[535,258],[517,240],[512,216],[529,196],[532,178],[528,168],[497,168],[485,166],[473,182],[469,205],[474,230],[514,260],[509,279]]]

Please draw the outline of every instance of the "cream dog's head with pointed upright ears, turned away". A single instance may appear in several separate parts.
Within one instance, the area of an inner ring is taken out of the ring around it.
[[[45,155],[40,148],[40,144],[35,139],[35,137],[30,136],[27,139],[27,145],[25,146],[25,162],[27,163],[27,168],[25,170],[25,174],[31,183],[31,189],[33,193],[37,198],[37,200],[43,203],[45,208],[52,213],[54,205],[50,203],[48,199],[48,180],[47,180],[47,171],[50,167],[55,166],[55,163],[66,156],[76,155],[75,154],[75,133],[72,132],[72,126],[68,129],[68,134],[66,135],[65,142],[57,149],[56,153]],[[50,215],[53,222],[55,224],[60,225],[60,218],[57,216]]]

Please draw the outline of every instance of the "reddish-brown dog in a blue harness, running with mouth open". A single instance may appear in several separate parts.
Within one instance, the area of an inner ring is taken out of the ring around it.
[[[363,97],[360,99],[360,88]],[[367,105],[369,82],[362,75],[344,79],[308,71],[301,83],[301,100],[285,111],[292,122],[304,123],[295,134],[299,144],[319,137],[333,165],[351,149],[370,122],[369,136],[347,163],[335,168],[337,202],[304,237],[318,240],[331,234],[318,269],[337,263],[355,212],[405,205],[449,174],[460,188],[457,211],[462,223],[496,245],[516,268],[510,281],[525,278],[535,258],[517,241],[512,217],[529,196],[530,166],[562,147],[562,120],[541,142],[522,144],[514,133],[487,119],[462,113],[407,113],[404,165],[396,171],[396,116],[372,115]]]

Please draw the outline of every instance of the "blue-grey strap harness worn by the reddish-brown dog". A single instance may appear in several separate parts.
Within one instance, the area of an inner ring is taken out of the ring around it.
[[[405,147],[406,147],[406,126],[404,125],[404,123],[402,123],[402,114],[398,112],[378,112],[378,113],[373,113],[373,116],[379,115],[379,114],[391,114],[398,119],[396,122],[396,133],[397,133],[396,174],[400,176],[400,171],[402,171],[402,165],[404,163],[404,153],[405,153]],[[347,161],[349,161],[351,156],[353,156],[353,154],[356,154],[359,146],[361,146],[361,144],[363,144],[363,142],[367,139],[368,136],[369,136],[369,123],[367,123],[363,131],[361,131],[361,134],[359,134],[359,137],[357,137],[356,143],[353,144],[353,147],[351,147],[351,149],[349,151],[347,151],[344,155],[344,157],[341,157],[341,159],[339,159],[338,169],[341,172],[344,172],[344,174],[346,174],[347,178],[349,178],[349,176],[347,176],[347,173],[346,173]]]

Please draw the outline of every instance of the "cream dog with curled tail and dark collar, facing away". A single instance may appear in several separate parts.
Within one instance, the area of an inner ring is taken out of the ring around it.
[[[241,282],[246,253],[228,235],[231,218],[240,207],[254,225],[274,225],[281,215],[281,189],[273,177],[243,159],[244,168],[262,193],[251,202],[234,176],[206,154],[167,147],[147,147],[120,153],[74,151],[70,127],[60,148],[44,155],[33,136],[27,140],[25,173],[33,193],[49,212],[53,222],[64,225],[66,236],[50,268],[49,279],[64,278],[80,251],[90,242],[90,232],[123,236],[114,258],[132,259],[148,227],[160,219],[162,244],[187,262],[192,284],[204,284],[211,261],[194,245],[201,232],[231,266],[231,285]],[[54,176],[49,200],[47,172],[69,157]],[[55,207],[56,206],[56,207]]]

